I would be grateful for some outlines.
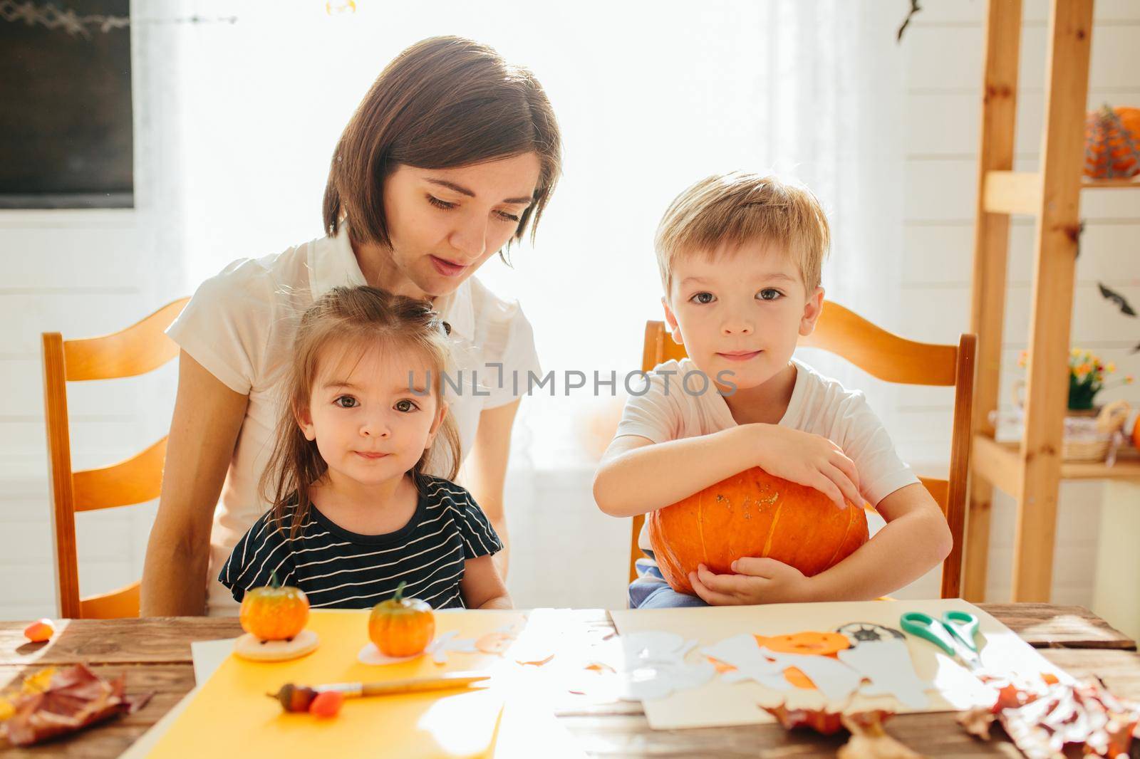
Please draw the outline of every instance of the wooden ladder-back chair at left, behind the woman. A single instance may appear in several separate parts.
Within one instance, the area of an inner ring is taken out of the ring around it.
[[[79,597],[75,512],[129,506],[157,498],[166,456],[166,438],[163,436],[141,454],[114,466],[73,472],[67,383],[132,377],[178,356],[178,345],[163,330],[188,301],[184,297],[168,303],[138,324],[103,337],[64,340],[58,332],[42,334],[43,406],[60,617],[138,617],[138,582],[103,595]]]

